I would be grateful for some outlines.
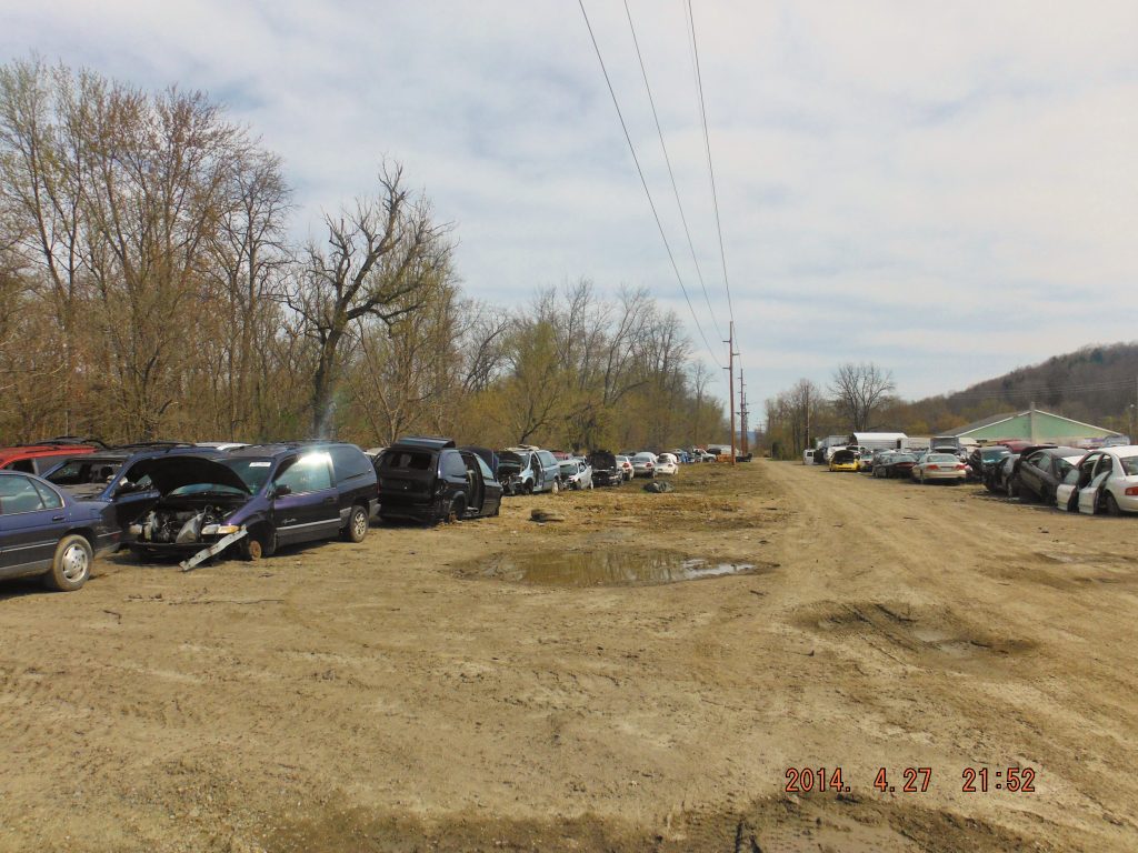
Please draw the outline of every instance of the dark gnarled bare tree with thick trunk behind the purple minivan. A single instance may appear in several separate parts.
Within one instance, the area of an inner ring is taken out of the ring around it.
[[[430,204],[403,185],[403,167],[385,164],[379,193],[355,208],[325,216],[328,251],[312,245],[286,300],[316,345],[312,375],[312,432],[330,426],[341,346],[361,317],[390,323],[418,309],[432,282],[451,275],[448,225],[436,223]]]

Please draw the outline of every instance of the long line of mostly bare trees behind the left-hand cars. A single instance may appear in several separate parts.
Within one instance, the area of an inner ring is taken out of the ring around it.
[[[385,162],[297,243],[284,164],[197,91],[0,66],[0,437],[721,438],[678,317],[586,281],[462,291],[454,226]]]

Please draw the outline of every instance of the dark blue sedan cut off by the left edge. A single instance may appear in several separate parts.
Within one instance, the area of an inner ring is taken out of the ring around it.
[[[118,546],[114,507],[76,500],[33,474],[0,471],[0,579],[40,575],[50,589],[79,589],[96,554]]]

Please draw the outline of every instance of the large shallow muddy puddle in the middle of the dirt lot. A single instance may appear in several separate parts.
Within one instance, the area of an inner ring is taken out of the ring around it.
[[[503,554],[463,568],[465,577],[546,587],[644,587],[729,574],[759,574],[772,566],[688,557],[673,552],[569,550]]]

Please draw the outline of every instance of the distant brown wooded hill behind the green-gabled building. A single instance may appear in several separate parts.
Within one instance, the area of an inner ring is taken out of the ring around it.
[[[1037,407],[1122,432],[1138,397],[1138,342],[1092,345],[963,391],[900,404],[891,420],[930,432],[1003,412]],[[921,434],[914,431],[910,434]]]

